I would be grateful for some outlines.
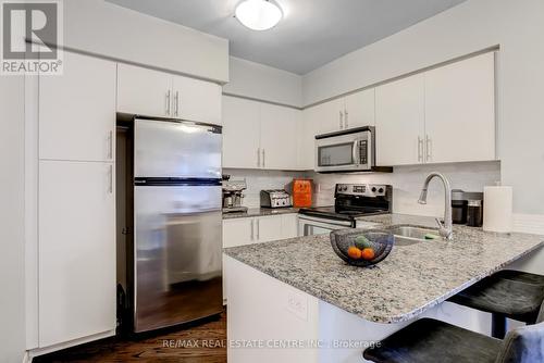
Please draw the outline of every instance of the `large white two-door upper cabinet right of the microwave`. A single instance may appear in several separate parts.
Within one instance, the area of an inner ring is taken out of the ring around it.
[[[378,165],[496,158],[494,53],[380,86],[375,104]]]

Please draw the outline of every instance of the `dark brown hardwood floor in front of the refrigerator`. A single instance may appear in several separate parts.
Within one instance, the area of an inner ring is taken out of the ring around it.
[[[226,362],[226,309],[221,317],[183,329],[164,329],[137,338],[109,338],[37,356],[45,362]]]

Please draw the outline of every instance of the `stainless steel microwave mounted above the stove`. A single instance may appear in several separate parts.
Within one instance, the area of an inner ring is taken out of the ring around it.
[[[356,127],[316,136],[316,172],[391,172],[375,165],[375,128]]]

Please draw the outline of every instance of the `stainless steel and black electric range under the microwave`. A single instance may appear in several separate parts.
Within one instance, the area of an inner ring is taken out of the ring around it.
[[[355,228],[363,215],[391,213],[393,187],[375,184],[337,184],[334,205],[299,210],[299,235],[310,236]]]

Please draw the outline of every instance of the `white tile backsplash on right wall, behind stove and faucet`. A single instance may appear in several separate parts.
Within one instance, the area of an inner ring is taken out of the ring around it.
[[[317,205],[334,204],[336,183],[369,183],[393,185],[393,212],[429,216],[444,215],[444,188],[438,179],[429,186],[428,203],[418,204],[418,198],[425,176],[430,172],[444,173],[452,188],[465,191],[483,191],[485,185],[500,179],[498,162],[458,163],[440,165],[397,166],[394,173],[376,174],[317,174],[306,176],[313,179],[313,201]]]

